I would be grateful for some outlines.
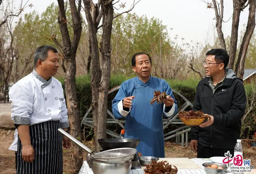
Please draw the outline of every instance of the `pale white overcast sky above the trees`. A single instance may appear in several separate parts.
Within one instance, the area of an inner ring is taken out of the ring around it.
[[[214,34],[217,36],[216,28],[214,27],[216,20],[213,19],[215,12],[213,9],[207,8],[207,4],[204,1],[207,0],[140,0],[132,12],[139,16],[146,15],[148,19],[155,17],[162,20],[163,24],[167,26],[170,37],[174,38],[175,35],[178,35],[180,41],[181,38],[185,38],[183,43],[191,43],[191,41],[193,43],[212,42]],[[16,5],[20,4],[20,2],[21,0],[15,0]],[[133,0],[120,0],[120,2],[126,2],[126,8],[120,9],[117,12],[129,9]],[[223,20],[227,22],[222,24],[222,31],[225,38],[231,34],[232,2],[231,0],[224,1]],[[57,0],[30,0],[29,3],[32,3],[34,6],[25,9],[24,12],[28,13],[35,10],[40,14],[51,3],[57,4]],[[244,28],[243,24],[247,24],[248,9],[249,6],[241,12],[239,34],[241,29]],[[173,29],[171,30],[171,28]]]

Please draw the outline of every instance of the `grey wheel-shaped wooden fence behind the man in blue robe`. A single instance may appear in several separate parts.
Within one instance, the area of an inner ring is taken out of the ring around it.
[[[108,90],[108,95],[117,91],[117,90],[119,90],[119,88],[120,88],[120,85]],[[184,97],[179,92],[177,92],[173,89],[172,89],[172,92],[175,95],[179,95],[184,100],[184,103],[181,105],[180,110],[185,110],[188,107],[192,108],[193,105],[191,104],[191,102],[189,102],[189,100],[186,97]],[[86,125],[86,126],[89,126],[89,127],[93,128],[93,118],[87,117],[91,111],[92,111],[92,106],[85,113],[85,115],[84,115],[84,117],[81,121],[81,126]],[[115,119],[113,113],[110,110],[108,110],[108,115],[111,118],[107,118],[107,124],[118,124],[124,129],[124,123],[125,123],[124,120]],[[184,123],[180,120],[179,117],[177,117],[177,115],[178,115],[178,113],[176,115],[172,116],[172,117],[164,118],[163,119],[163,125],[164,125],[163,129],[167,128],[170,124],[181,124],[181,125],[183,124],[184,125]],[[181,126],[180,128],[177,128],[173,131],[165,133],[164,134],[164,140],[169,140],[169,139],[175,137],[176,138],[176,143],[181,144],[182,147],[183,147],[184,146],[184,134],[185,134],[185,136],[186,136],[185,144],[186,144],[186,146],[188,146],[188,132],[190,130],[191,130],[190,126],[187,126],[187,125]],[[106,133],[108,135],[111,135],[111,136],[116,137],[116,138],[119,137],[119,134],[117,134],[116,132],[114,132],[112,130],[109,130],[109,129],[106,130]]]

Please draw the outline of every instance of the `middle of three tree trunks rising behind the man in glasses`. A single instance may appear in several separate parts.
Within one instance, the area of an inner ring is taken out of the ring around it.
[[[230,48],[229,48],[229,63],[228,68],[233,69],[236,59],[236,49],[237,49],[237,37],[238,37],[238,26],[242,7],[247,2],[247,0],[233,0],[233,18],[231,27],[231,38],[230,38]]]

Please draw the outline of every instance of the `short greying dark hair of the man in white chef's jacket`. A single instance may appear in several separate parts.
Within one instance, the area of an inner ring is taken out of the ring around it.
[[[46,58],[48,57],[48,51],[51,50],[54,53],[57,53],[57,49],[50,46],[50,45],[42,45],[38,47],[34,53],[34,64],[35,67],[37,66],[38,60],[45,61]]]

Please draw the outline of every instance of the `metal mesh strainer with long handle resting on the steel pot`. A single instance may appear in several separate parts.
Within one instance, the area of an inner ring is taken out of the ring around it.
[[[92,158],[94,159],[106,160],[106,161],[124,161],[124,160],[131,159],[137,152],[135,148],[116,148],[116,149],[110,149],[110,150],[96,153],[95,151],[92,151],[91,149],[87,148],[83,143],[76,140],[74,137],[72,137],[63,129],[59,128],[58,131],[63,135],[65,135],[69,140],[73,141],[78,146],[86,150],[89,154],[92,154]]]

